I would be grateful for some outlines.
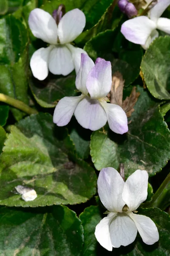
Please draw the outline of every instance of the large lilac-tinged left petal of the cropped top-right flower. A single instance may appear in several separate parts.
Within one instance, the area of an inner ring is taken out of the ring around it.
[[[146,16],[140,16],[125,21],[122,24],[121,32],[128,41],[145,44],[154,29],[156,29],[156,23]]]

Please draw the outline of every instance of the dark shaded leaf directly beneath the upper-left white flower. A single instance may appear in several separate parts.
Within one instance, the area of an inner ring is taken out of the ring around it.
[[[48,76],[39,81],[33,76],[29,84],[34,98],[43,108],[55,108],[57,102],[65,96],[76,96],[76,76]]]

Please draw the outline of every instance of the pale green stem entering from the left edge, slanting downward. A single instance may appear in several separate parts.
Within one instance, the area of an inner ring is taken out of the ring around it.
[[[15,108],[18,108],[18,109],[22,110],[23,112],[26,112],[28,115],[38,113],[37,110],[35,110],[34,108],[30,108],[24,102],[22,102],[18,99],[11,98],[10,96],[7,96],[3,93],[0,93],[0,102],[5,102]]]

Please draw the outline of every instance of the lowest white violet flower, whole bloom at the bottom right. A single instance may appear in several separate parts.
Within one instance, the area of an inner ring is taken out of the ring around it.
[[[155,223],[147,216],[133,213],[147,198],[147,171],[136,170],[126,182],[114,168],[104,168],[97,181],[102,204],[108,216],[96,226],[97,241],[107,250],[131,244],[139,232],[145,244],[159,240]]]

